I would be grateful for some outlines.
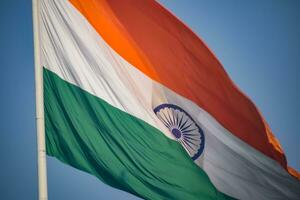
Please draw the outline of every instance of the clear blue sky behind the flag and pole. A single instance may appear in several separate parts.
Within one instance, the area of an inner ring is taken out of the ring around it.
[[[161,0],[213,50],[300,171],[300,1]],[[0,199],[37,199],[30,0],[0,1]],[[49,199],[138,199],[48,157]]]

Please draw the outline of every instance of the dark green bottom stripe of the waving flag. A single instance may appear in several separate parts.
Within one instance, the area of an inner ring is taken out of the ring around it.
[[[47,154],[144,199],[226,199],[179,143],[44,68]]]

